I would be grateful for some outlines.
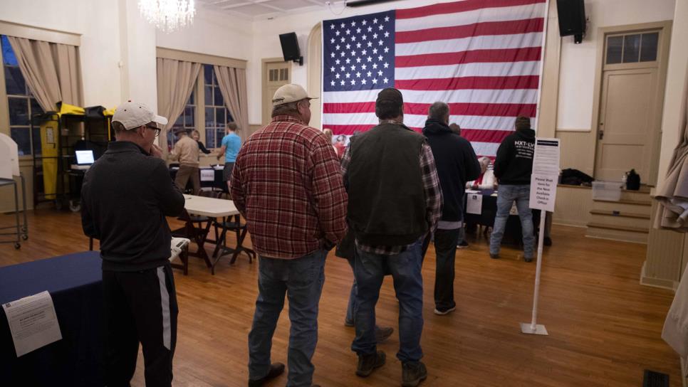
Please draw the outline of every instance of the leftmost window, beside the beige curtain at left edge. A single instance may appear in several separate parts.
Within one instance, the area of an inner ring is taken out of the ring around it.
[[[20,156],[38,156],[41,154],[41,132],[38,127],[31,125],[31,117],[43,113],[43,109],[28,90],[7,36],[0,36],[0,46],[9,107],[10,136],[17,143]]]

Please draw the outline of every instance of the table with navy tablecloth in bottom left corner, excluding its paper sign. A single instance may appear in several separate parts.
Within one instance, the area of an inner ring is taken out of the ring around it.
[[[87,251],[0,267],[0,303],[47,290],[62,339],[17,358],[0,308],[0,386],[103,386],[103,272]]]

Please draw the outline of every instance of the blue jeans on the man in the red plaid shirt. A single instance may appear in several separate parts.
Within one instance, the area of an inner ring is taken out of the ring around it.
[[[289,297],[288,387],[310,387],[315,367],[311,363],[318,343],[318,302],[325,282],[325,250],[293,260],[260,257],[259,295],[249,333],[249,379],[270,370],[272,336]]]

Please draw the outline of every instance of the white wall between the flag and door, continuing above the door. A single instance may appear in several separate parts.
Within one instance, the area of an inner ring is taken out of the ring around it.
[[[590,18],[583,43],[573,36],[561,43],[557,129],[590,130],[598,48],[598,28],[672,20],[675,0],[586,0]],[[679,2],[685,0],[679,0]],[[673,38],[673,36],[672,36]],[[672,48],[673,49],[673,48]]]

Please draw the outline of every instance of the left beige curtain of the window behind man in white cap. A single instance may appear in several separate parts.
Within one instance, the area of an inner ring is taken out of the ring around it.
[[[167,132],[184,112],[200,70],[200,63],[157,58],[157,114],[167,118],[167,125],[160,133],[160,145],[165,155],[168,152]]]

